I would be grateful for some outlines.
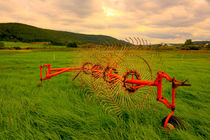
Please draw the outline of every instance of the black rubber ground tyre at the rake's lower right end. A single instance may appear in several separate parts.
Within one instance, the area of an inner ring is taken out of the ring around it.
[[[161,126],[164,127],[164,123],[167,117],[165,117],[162,120]],[[178,129],[185,129],[184,124],[182,123],[182,121],[175,117],[175,116],[171,116],[171,118],[168,120],[168,124],[167,124],[167,128],[169,130],[173,130],[174,128],[178,128]]]

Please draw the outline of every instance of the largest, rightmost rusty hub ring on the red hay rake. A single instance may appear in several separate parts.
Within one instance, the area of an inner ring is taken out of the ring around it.
[[[123,87],[129,93],[133,93],[133,92],[136,91],[134,84],[128,84],[128,83],[126,83],[126,79],[128,79],[129,76],[131,76],[131,78],[132,79],[135,79],[135,80],[140,80],[141,78],[140,78],[139,73],[137,71],[135,71],[135,70],[129,70],[123,76]]]

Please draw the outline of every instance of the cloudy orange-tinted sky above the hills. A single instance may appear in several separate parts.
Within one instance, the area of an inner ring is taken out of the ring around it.
[[[183,43],[210,40],[210,0],[0,0],[0,22]]]

